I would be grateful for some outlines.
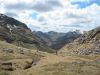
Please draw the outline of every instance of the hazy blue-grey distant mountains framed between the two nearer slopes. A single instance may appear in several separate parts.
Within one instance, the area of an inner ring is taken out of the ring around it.
[[[65,44],[74,41],[81,35],[79,31],[67,32],[67,33],[60,33],[54,31],[50,32],[34,31],[33,34],[39,37],[44,44],[56,50],[62,48]]]

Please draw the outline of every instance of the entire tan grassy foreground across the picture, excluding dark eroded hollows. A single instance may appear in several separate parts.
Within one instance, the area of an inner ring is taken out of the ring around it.
[[[7,49],[7,51],[5,50]],[[13,50],[14,52],[9,50]],[[23,51],[21,51],[23,50]],[[34,56],[37,54],[36,56]],[[37,57],[38,56],[38,57]],[[42,58],[41,58],[42,57]],[[37,65],[23,70],[0,71],[0,75],[99,75],[100,55],[95,56],[61,56],[46,52],[36,53],[36,50],[17,47],[0,41],[0,62],[11,61],[23,67],[26,61],[39,59]]]

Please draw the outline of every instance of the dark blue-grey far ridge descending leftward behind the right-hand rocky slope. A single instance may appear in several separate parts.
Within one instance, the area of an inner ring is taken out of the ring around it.
[[[61,49],[63,46],[73,42],[75,39],[79,38],[80,36],[81,36],[80,32],[77,31],[68,32],[64,36],[57,38],[55,43],[52,45],[52,48]]]

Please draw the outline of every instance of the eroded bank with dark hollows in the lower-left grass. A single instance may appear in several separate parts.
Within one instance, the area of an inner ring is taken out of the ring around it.
[[[14,71],[17,69],[26,70],[35,66],[36,62],[32,59],[13,59],[9,61],[0,61],[0,69],[5,71]]]

